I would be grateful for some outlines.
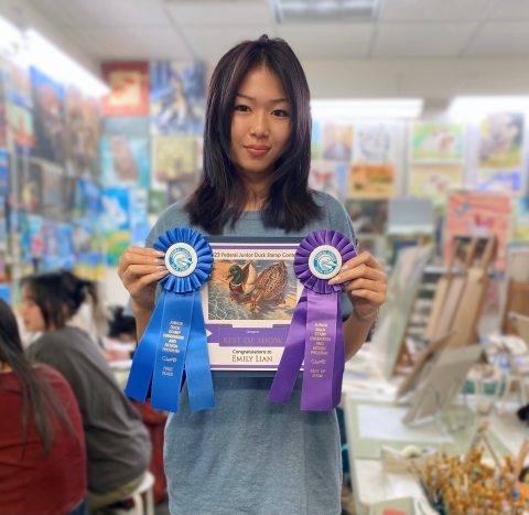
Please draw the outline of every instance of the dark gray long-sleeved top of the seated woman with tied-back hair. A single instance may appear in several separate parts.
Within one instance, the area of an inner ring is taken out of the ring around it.
[[[88,490],[112,492],[140,476],[151,459],[149,432],[90,336],[66,326],[44,333],[29,354],[58,371],[74,391],[85,430]]]

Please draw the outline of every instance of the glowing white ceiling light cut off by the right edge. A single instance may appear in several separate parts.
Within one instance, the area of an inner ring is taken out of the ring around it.
[[[529,115],[529,96],[455,97],[449,116],[456,121],[481,121],[487,114],[498,111]]]

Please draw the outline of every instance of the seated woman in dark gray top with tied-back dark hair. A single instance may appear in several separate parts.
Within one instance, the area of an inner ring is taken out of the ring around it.
[[[106,320],[94,282],[67,270],[22,280],[25,329],[43,332],[31,345],[30,355],[66,378],[80,409],[91,512],[126,500],[141,484],[151,443],[140,416],[120,390],[94,341],[86,332],[68,325],[88,298],[96,320],[102,324]]]

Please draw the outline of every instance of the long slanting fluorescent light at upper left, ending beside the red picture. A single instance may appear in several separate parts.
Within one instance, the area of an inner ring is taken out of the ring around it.
[[[63,84],[77,86],[87,95],[101,97],[109,87],[94,74],[80,66],[61,49],[34,29],[26,31],[30,64]]]

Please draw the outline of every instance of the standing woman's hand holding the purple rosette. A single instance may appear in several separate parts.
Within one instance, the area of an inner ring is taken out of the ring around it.
[[[361,253],[346,261],[328,283],[350,281],[344,291],[359,319],[369,319],[386,301],[387,277],[382,267],[369,253]]]

